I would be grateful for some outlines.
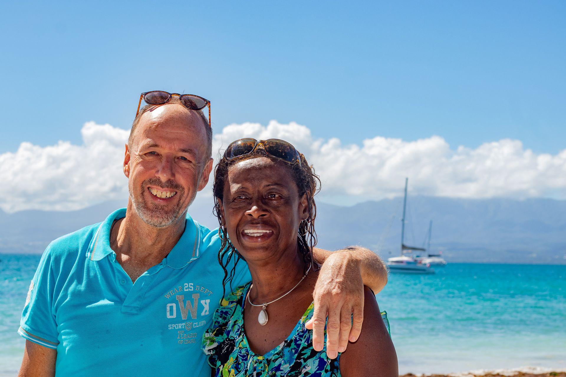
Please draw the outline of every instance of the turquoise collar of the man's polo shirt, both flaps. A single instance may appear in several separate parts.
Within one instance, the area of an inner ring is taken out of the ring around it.
[[[91,243],[88,246],[87,255],[88,259],[92,261],[100,261],[108,254],[113,254],[114,250],[110,248],[110,231],[114,220],[126,217],[126,209],[121,208],[111,213],[102,223],[98,226],[95,236],[92,237]],[[177,244],[163,259],[163,264],[171,268],[183,268],[188,263],[191,263],[200,256],[201,233],[199,227],[196,226],[194,220],[187,213],[185,220],[185,231],[181,235]]]

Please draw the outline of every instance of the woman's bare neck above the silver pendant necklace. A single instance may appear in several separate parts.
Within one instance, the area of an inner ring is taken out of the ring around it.
[[[269,261],[248,262],[253,284],[250,300],[254,304],[276,300],[305,276],[308,266],[297,250],[280,255]]]

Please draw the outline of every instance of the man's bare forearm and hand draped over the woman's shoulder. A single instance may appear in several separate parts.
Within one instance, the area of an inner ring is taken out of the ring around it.
[[[338,352],[344,352],[348,340],[356,341],[362,330],[363,285],[380,292],[387,284],[387,267],[378,255],[360,246],[336,252],[315,248],[313,256],[316,262],[324,263],[313,293],[315,311],[306,326],[313,330],[313,348],[321,350],[326,325],[327,356],[336,358]]]

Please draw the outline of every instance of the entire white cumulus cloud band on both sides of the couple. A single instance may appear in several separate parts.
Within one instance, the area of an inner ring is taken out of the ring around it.
[[[82,145],[23,142],[15,153],[0,154],[0,174],[7,177],[0,208],[72,210],[124,198],[122,159],[128,131],[88,122],[81,134]],[[215,157],[242,137],[289,141],[315,166],[323,182],[321,194],[328,198],[352,202],[398,196],[409,177],[413,194],[566,199],[566,150],[536,154],[518,140],[470,149],[451,148],[440,136],[417,141],[376,136],[343,145],[338,138],[313,137],[304,125],[272,120],[268,125],[227,125],[214,136]]]

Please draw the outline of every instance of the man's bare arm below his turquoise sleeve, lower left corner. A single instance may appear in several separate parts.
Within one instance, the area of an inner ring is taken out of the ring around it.
[[[26,340],[18,377],[53,377],[55,359],[57,359],[57,350]]]

